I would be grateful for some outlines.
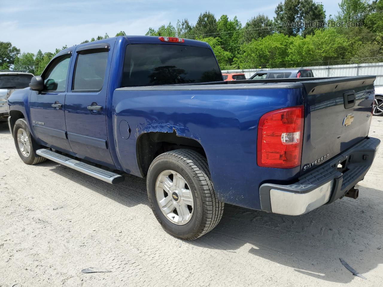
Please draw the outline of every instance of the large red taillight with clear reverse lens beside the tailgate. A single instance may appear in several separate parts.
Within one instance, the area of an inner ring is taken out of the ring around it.
[[[301,164],[304,107],[278,109],[259,120],[257,163],[269,168]]]

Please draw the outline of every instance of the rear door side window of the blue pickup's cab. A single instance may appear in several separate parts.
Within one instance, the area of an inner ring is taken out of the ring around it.
[[[108,51],[93,49],[79,52],[72,91],[101,91],[107,61]]]

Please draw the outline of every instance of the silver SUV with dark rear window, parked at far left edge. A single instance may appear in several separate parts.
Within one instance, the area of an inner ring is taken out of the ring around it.
[[[0,70],[0,121],[7,121],[7,100],[17,89],[27,88],[33,74],[23,71]]]

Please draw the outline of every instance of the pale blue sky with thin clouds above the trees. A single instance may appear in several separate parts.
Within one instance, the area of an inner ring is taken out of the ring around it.
[[[21,52],[54,52],[98,35],[110,37],[123,30],[128,35],[144,35],[149,27],[187,18],[195,24],[201,12],[210,11],[218,19],[228,15],[242,25],[258,14],[275,16],[281,0],[268,1],[180,1],[180,0],[0,0],[0,41],[11,42]],[[322,2],[326,17],[339,10],[338,2]]]

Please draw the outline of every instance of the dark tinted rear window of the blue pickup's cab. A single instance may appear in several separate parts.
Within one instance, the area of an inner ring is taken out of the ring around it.
[[[123,87],[215,81],[222,81],[222,75],[208,48],[173,44],[126,47]]]

